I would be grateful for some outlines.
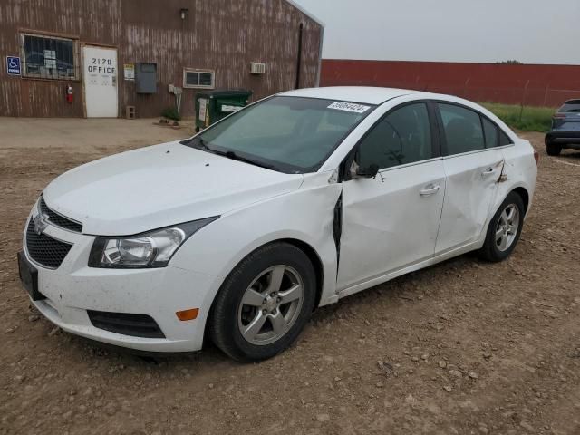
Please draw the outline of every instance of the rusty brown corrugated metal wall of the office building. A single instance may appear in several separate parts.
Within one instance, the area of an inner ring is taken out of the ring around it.
[[[185,20],[179,11],[188,8]],[[245,87],[258,99],[295,87],[299,25],[304,23],[301,87],[314,86],[322,28],[285,0],[2,0],[0,55],[22,56],[20,32],[61,34],[118,48],[119,107],[155,117],[175,102],[169,83],[183,84],[183,68],[215,70],[216,88]],[[80,57],[79,57],[80,59]],[[124,63],[158,64],[159,89],[139,95],[122,77]],[[266,63],[252,75],[251,62]],[[71,83],[74,103],[65,102]],[[193,113],[196,90],[184,89],[182,113]],[[81,81],[40,80],[0,72],[0,115],[84,115]]]

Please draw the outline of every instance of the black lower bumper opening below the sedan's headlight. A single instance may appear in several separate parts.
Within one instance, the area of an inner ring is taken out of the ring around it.
[[[92,310],[88,310],[87,314],[95,328],[111,333],[143,338],[165,338],[157,322],[147,314],[107,313]]]

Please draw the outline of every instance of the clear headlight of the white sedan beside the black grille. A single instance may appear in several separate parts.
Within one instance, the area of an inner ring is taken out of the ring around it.
[[[90,267],[164,267],[190,236],[219,217],[156,229],[130,237],[97,237],[92,244]]]

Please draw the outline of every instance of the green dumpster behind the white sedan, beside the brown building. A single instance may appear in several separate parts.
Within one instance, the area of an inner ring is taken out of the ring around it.
[[[227,115],[247,106],[251,91],[222,89],[196,94],[196,131],[201,131]]]

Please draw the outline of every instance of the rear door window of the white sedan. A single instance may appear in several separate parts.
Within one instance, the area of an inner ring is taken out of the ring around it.
[[[446,155],[484,150],[486,148],[481,118],[454,104],[438,103],[447,144]]]

